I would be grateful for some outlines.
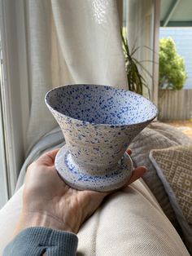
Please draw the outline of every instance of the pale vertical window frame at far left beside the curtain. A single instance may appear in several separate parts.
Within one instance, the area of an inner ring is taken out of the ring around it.
[[[24,0],[0,0],[2,37],[2,116],[9,197],[25,157],[24,139],[29,118],[27,43]]]

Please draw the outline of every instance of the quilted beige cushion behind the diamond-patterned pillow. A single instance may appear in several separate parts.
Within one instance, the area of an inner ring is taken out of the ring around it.
[[[148,169],[143,179],[180,235],[182,235],[181,227],[178,225],[176,215],[172,210],[172,205],[164,190],[164,185],[151,163],[149,154],[151,149],[170,148],[187,143],[192,144],[192,139],[182,134],[177,128],[159,121],[152,121],[149,126],[133,139],[133,142],[129,146],[133,151],[132,159],[135,166],[146,166]]]

